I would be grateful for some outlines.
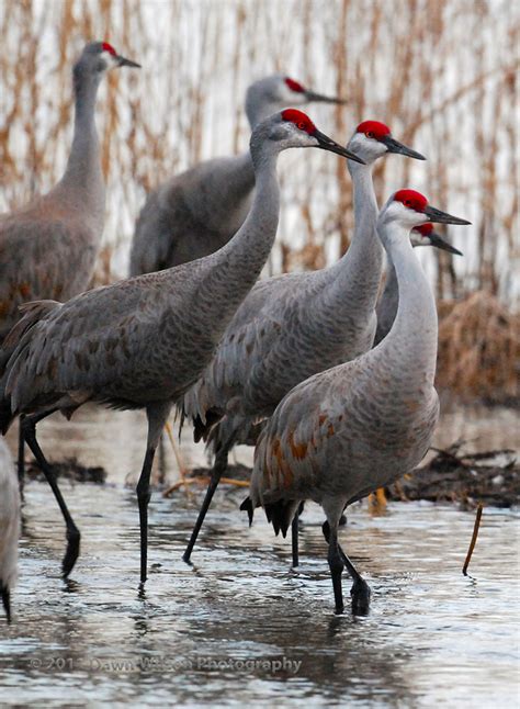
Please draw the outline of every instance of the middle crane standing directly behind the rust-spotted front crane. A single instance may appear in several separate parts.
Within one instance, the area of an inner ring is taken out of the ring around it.
[[[257,283],[229,324],[212,363],[184,397],[184,412],[195,425],[195,440],[210,439],[216,453],[206,496],[183,555],[186,562],[227,466],[229,449],[237,442],[248,442],[252,426],[271,416],[293,386],[372,347],[383,262],[375,232],[378,212],[373,165],[387,153],[425,158],[397,142],[388,126],[378,121],[360,123],[348,148],[365,165],[348,162],[355,226],[347,254],[320,271]],[[296,533],[294,529],[295,565]]]

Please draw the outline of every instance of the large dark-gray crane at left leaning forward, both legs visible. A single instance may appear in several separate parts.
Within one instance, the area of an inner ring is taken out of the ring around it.
[[[222,249],[176,268],[120,281],[74,297],[30,303],[3,344],[0,427],[26,414],[25,441],[42,468],[67,526],[67,576],[79,554],[76,527],[36,440],[36,424],[89,401],[144,408],[146,455],[137,484],[140,579],[147,573],[150,471],[171,406],[210,362],[235,311],[257,280],[274,241],[280,189],[276,160],[287,148],[316,147],[357,158],[287,109],[260,123],[250,140],[257,189],[246,222]]]

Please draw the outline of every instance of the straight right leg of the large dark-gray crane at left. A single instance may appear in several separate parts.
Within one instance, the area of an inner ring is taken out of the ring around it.
[[[140,583],[144,584],[147,576],[148,567],[148,504],[150,502],[150,473],[154,455],[156,453],[159,439],[165,427],[168,416],[170,415],[171,404],[159,403],[148,406],[146,415],[148,417],[148,440],[146,454],[137,483],[137,503],[139,505],[139,530],[140,530]]]

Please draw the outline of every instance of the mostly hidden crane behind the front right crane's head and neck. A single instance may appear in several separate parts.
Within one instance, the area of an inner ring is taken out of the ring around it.
[[[422,224],[416,226],[410,233],[411,246],[434,246],[438,249],[443,249],[450,254],[462,252],[455,247],[448,244],[445,239],[433,230],[433,224]],[[395,315],[397,313],[397,305],[399,303],[399,291],[397,288],[397,275],[395,268],[388,261],[386,268],[385,288],[381,293],[377,306],[375,308],[377,315],[377,328],[375,330],[374,347],[381,342],[391,331],[394,324]]]

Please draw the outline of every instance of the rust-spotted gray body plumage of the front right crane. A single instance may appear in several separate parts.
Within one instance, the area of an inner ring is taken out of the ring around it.
[[[285,499],[296,509],[313,499],[339,519],[346,505],[421,461],[439,402],[423,362],[404,357],[404,347],[412,352],[410,338],[396,333],[392,344],[320,372],[287,394],[260,435],[253,506]],[[400,376],[392,376],[397,367]]]

